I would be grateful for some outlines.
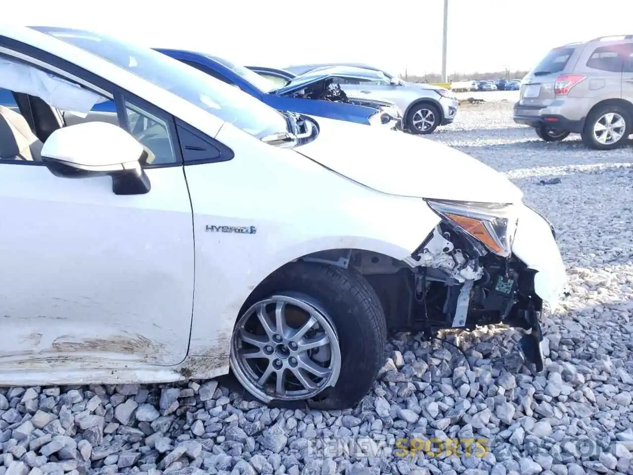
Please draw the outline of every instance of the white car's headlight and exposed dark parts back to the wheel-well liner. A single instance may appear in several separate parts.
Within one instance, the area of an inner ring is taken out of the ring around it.
[[[375,287],[389,326],[427,333],[517,327],[525,360],[541,371],[543,298],[535,290],[537,270],[512,251],[518,220],[510,216],[517,213],[480,203],[428,203],[442,222],[405,262],[354,253],[350,258]]]

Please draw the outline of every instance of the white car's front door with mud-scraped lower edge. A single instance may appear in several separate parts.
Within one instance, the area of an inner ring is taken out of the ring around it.
[[[29,87],[25,77],[20,92]],[[49,90],[59,101],[64,87]],[[0,147],[0,384],[15,372],[175,365],[187,355],[192,209],[172,117],[142,99],[119,98],[122,110],[108,120],[123,122],[152,152],[146,194],[116,195],[110,177],[51,174],[38,156],[42,134],[32,127],[28,135],[28,123],[46,124],[46,117],[24,117],[37,115],[41,103],[12,112],[20,137],[0,117],[3,141],[24,148],[11,156]],[[57,112],[75,123],[85,117],[77,110]]]

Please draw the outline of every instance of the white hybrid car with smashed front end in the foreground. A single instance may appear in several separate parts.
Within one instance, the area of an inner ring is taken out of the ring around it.
[[[388,330],[500,322],[542,367],[553,230],[470,156],[80,30],[0,28],[0,88],[0,384],[231,368],[265,403],[342,408]]]

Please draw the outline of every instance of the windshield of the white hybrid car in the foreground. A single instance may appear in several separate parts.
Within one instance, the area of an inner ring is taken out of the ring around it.
[[[278,111],[166,54],[83,30],[34,29],[110,61],[258,139],[287,132],[287,120]]]

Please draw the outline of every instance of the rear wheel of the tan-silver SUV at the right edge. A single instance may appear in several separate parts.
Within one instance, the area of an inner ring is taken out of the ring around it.
[[[582,131],[582,142],[596,150],[611,150],[624,144],[631,132],[629,112],[618,105],[591,111]]]

